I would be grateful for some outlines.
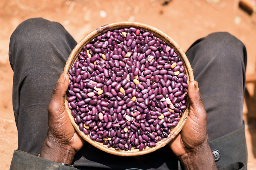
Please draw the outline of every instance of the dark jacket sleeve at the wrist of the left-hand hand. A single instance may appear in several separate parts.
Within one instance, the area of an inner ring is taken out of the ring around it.
[[[77,170],[71,166],[52,162],[48,159],[31,155],[27,152],[15,150],[12,157],[10,170]]]

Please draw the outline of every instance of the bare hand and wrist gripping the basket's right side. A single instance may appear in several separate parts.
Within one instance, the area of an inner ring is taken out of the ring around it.
[[[180,160],[182,169],[217,169],[207,142],[207,114],[197,81],[191,81],[188,86],[188,100],[190,111],[186,124],[169,147]]]

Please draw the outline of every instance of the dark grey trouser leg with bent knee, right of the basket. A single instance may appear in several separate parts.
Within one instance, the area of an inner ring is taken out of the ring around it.
[[[208,141],[242,126],[246,48],[229,33],[213,33],[194,42],[186,55],[207,112]]]

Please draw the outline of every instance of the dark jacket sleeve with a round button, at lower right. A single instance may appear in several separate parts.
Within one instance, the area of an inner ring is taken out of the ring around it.
[[[209,142],[212,150],[219,151],[220,158],[216,161],[218,170],[246,170],[247,147],[245,140],[245,122],[229,134]]]

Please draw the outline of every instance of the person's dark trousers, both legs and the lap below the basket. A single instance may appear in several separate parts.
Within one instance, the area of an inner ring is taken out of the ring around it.
[[[76,44],[63,26],[42,18],[22,22],[12,34],[9,59],[14,70],[12,98],[18,149],[40,153],[47,136],[47,106],[52,89]],[[194,42],[186,55],[207,111],[209,142],[239,129],[245,89],[244,44],[229,33],[213,33]],[[85,143],[76,154],[74,165],[80,169],[177,169],[177,159],[167,146],[125,158]]]

